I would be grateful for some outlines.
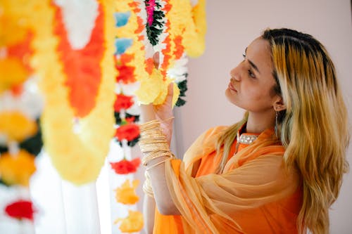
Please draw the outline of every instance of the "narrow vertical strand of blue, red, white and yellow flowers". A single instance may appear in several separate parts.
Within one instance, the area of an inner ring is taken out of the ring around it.
[[[135,101],[136,97],[132,93],[137,79],[141,79],[146,74],[146,70],[143,66],[137,65],[138,61],[142,62],[144,51],[142,51],[142,38],[138,37],[141,22],[136,14],[135,2],[133,0],[117,1],[115,6],[117,10],[114,14],[115,26],[117,28],[114,60],[115,69],[118,71],[114,104],[115,140],[122,148],[123,157],[118,162],[110,162],[110,164],[117,179],[125,181],[115,189],[115,200],[120,204],[125,204],[125,213],[128,212],[127,217],[116,219],[115,224],[120,223],[120,231],[132,233],[141,230],[144,225],[142,213],[133,211],[130,207],[139,201],[135,192],[139,181],[133,180],[131,186],[129,178],[133,177],[133,173],[137,171],[141,163],[139,157],[132,160],[129,149],[139,140],[139,125],[136,124],[139,121],[139,108]]]

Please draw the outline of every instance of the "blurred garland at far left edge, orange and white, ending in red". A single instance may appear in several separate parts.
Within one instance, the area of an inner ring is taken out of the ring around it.
[[[0,3],[0,193],[6,193],[1,206],[4,214],[20,221],[34,219],[28,187],[36,170],[34,158],[42,149],[38,119],[43,102],[30,64],[33,11],[33,4]]]

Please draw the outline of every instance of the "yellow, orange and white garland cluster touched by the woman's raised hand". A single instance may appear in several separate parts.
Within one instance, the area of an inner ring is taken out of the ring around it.
[[[144,44],[146,44],[146,68],[149,77],[140,80],[141,85],[136,95],[142,103],[161,104],[165,100],[168,84],[174,81],[177,84],[174,86],[174,93],[178,97],[174,98],[174,104],[184,105],[183,97],[187,91],[187,69],[184,67],[187,58],[184,53],[196,57],[204,51],[205,0],[198,1],[193,8],[191,2],[187,0],[144,2],[145,11],[141,12],[145,12],[142,18],[148,35]],[[161,51],[161,64],[158,70],[152,67],[150,47],[153,47],[154,51]],[[179,71],[175,71],[177,69]]]

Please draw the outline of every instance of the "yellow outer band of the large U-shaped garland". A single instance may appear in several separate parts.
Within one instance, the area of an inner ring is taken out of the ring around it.
[[[39,86],[46,98],[42,115],[45,148],[58,173],[76,184],[96,179],[113,136],[113,1],[99,1],[99,4],[104,17],[104,44],[101,46],[106,48],[100,61],[101,84],[96,105],[89,115],[79,119],[77,133],[73,131],[75,112],[70,108],[69,91],[63,85],[63,63],[56,52],[59,39],[54,35],[53,22],[57,6],[49,0],[37,2],[37,11],[32,17],[37,33],[34,67],[42,77]]]

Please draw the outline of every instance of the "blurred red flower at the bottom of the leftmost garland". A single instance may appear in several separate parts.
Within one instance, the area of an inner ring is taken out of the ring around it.
[[[30,201],[18,200],[17,202],[8,204],[5,207],[5,212],[8,216],[15,219],[29,219],[33,221],[34,209]]]

